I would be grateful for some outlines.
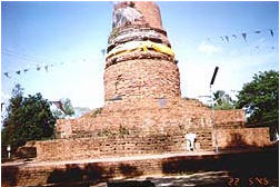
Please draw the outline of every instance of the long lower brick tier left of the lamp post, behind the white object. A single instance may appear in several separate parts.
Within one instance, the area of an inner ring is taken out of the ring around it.
[[[37,141],[38,160],[74,160],[162,152],[184,152],[184,135],[198,136],[197,148],[212,149],[211,129],[189,129],[178,135],[123,135]]]

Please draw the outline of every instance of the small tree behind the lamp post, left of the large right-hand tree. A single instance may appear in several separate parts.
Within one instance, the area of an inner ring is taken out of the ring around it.
[[[217,90],[213,92],[214,109],[217,110],[230,110],[234,109],[234,101],[223,90]]]

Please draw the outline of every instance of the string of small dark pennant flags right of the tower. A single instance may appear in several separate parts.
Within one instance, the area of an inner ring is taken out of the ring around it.
[[[230,40],[238,39],[238,38],[241,37],[243,41],[247,41],[248,36],[259,35],[259,33],[263,33],[263,32],[268,32],[273,38],[274,33],[276,33],[276,30],[274,29],[254,30],[254,31],[251,31],[251,32],[241,32],[241,33],[232,33],[232,35],[221,36],[219,38],[221,39],[221,41],[230,42]],[[211,41],[211,38],[207,38],[207,40]]]

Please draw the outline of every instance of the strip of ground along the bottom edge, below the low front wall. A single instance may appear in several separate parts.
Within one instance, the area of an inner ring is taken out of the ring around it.
[[[100,183],[91,187],[278,187],[278,179],[234,178],[228,171],[178,174],[172,176],[146,176]]]

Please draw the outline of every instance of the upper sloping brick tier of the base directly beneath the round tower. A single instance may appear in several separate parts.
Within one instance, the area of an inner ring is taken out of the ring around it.
[[[216,125],[220,128],[243,127],[242,110],[216,110]],[[78,119],[58,120],[58,137],[69,138],[100,131],[131,134],[178,134],[190,128],[212,128],[211,110],[198,100],[172,99],[124,99],[108,101],[101,112],[88,114]]]

